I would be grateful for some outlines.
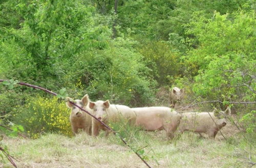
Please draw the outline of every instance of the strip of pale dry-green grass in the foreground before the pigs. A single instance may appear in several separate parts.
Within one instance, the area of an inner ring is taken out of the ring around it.
[[[255,148],[239,138],[236,128],[227,125],[222,132],[228,141],[220,133],[209,139],[186,132],[167,141],[163,131],[139,131],[130,145],[146,146],[143,157],[152,167],[246,167],[255,162]],[[4,137],[4,144],[18,167],[146,167],[114,135],[105,138],[103,132],[98,138],[83,133],[75,137],[45,134],[38,139]],[[12,166],[6,160],[0,167]]]

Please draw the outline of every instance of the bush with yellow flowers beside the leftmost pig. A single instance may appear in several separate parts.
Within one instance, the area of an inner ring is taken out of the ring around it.
[[[32,138],[37,138],[44,132],[72,135],[70,110],[58,98],[35,97],[20,109],[14,118]]]

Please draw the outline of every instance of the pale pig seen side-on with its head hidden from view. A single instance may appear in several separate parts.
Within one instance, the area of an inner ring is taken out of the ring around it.
[[[181,115],[169,107],[137,107],[132,108],[137,115],[135,126],[145,131],[165,130],[167,138],[173,138]]]

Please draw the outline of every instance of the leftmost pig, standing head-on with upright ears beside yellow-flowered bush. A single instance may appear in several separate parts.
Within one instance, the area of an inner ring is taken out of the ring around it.
[[[67,98],[67,100],[72,100]],[[89,113],[92,113],[91,108],[89,108],[89,96],[88,94],[84,95],[81,100],[74,100],[74,103],[83,109],[87,110]],[[66,102],[67,106],[71,108],[70,114],[70,124],[74,134],[78,133],[78,128],[83,129],[87,134],[92,134],[92,117],[86,112],[82,111],[75,105],[71,104],[69,101]],[[88,104],[88,105],[87,105]]]

